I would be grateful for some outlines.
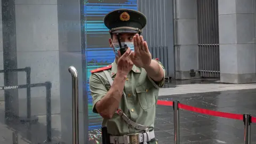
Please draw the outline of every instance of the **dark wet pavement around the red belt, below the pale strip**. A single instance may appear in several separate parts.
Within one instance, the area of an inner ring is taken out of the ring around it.
[[[174,94],[159,100],[179,100],[198,108],[256,116],[256,89]],[[157,106],[155,127],[159,144],[173,143],[172,107]],[[180,110],[181,143],[243,143],[243,128],[243,121]],[[255,123],[251,126],[251,140],[256,143]]]

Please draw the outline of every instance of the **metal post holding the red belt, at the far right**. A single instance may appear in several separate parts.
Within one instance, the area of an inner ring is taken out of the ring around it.
[[[250,114],[244,114],[244,144],[251,143],[251,123],[252,116]]]

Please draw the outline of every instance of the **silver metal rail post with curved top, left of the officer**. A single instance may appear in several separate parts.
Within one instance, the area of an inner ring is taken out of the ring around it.
[[[73,144],[78,144],[78,74],[75,67],[68,68],[72,76],[72,124]]]

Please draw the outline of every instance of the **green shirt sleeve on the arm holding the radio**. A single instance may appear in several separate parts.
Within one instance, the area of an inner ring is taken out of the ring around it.
[[[90,76],[89,85],[93,100],[92,111],[93,113],[98,113],[97,109],[95,108],[95,104],[100,101],[107,94],[108,91],[105,87],[105,84],[101,81],[100,77],[95,74],[92,74]]]

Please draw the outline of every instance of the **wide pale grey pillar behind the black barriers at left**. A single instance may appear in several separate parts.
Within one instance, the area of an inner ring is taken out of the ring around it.
[[[51,124],[52,138],[61,132],[60,116],[60,69],[58,43],[57,0],[15,1],[15,27],[18,68],[31,68],[31,84],[52,83]],[[18,73],[18,84],[26,84],[26,73]],[[27,116],[27,91],[19,89],[19,117]],[[38,116],[38,122],[46,125],[45,87],[31,88],[31,115]],[[65,125],[65,124],[64,124]],[[46,127],[31,132],[32,143],[46,139]]]

